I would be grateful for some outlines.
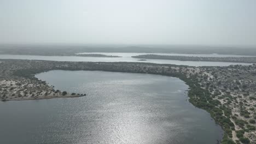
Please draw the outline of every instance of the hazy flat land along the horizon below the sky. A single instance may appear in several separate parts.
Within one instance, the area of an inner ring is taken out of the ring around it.
[[[80,52],[189,53],[256,56],[255,47],[200,45],[11,45],[0,44],[1,55],[70,56]]]

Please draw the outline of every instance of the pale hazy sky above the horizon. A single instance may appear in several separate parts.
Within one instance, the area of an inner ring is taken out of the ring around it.
[[[0,0],[0,43],[256,45],[256,1]]]

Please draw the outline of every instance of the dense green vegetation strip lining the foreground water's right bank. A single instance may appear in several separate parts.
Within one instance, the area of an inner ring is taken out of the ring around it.
[[[179,78],[185,81],[190,87],[188,92],[190,103],[196,107],[199,107],[200,109],[208,111],[213,119],[222,126],[225,132],[222,143],[235,143],[230,139],[232,138],[232,129],[234,129],[234,123],[232,123],[229,118],[231,116],[231,109],[225,106],[220,106],[220,108],[218,108],[218,106],[221,105],[220,102],[218,100],[214,100],[211,97],[210,92],[208,92],[206,89],[202,89],[197,84],[198,82],[195,77],[190,77],[190,79],[187,79],[184,76],[181,76]]]

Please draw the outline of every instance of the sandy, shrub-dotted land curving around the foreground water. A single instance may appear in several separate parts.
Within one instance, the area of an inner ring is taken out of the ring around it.
[[[49,70],[102,70],[178,77],[189,86],[191,104],[206,110],[224,130],[222,143],[256,143],[256,65],[189,67],[132,62],[0,60],[0,99],[81,97],[61,92],[35,74]]]

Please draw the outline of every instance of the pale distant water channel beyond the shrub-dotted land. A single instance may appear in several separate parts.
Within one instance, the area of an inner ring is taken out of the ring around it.
[[[97,52],[94,52],[97,53]],[[131,56],[156,54],[156,55],[174,55],[174,56],[200,56],[200,57],[248,57],[238,55],[203,55],[203,54],[181,54],[181,53],[104,53],[97,54],[113,55],[121,57],[78,57],[78,56],[31,56],[31,55],[0,55],[0,59],[37,59],[47,61],[71,61],[71,62],[142,62],[158,64],[177,64],[189,66],[228,66],[234,64],[249,65],[251,63],[230,63],[230,62],[193,62],[193,61],[174,61],[168,59],[147,59],[147,61],[138,61]]]

